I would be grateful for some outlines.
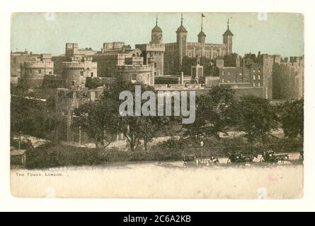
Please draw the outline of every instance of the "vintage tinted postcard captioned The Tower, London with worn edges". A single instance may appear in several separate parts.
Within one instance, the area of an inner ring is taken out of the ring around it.
[[[303,197],[300,13],[12,13],[11,194]]]

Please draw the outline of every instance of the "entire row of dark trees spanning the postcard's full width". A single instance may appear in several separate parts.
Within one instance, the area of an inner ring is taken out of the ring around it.
[[[141,85],[142,92],[154,89]],[[181,117],[120,117],[119,94],[123,90],[134,93],[134,84],[116,81],[96,102],[87,102],[74,110],[74,127],[81,126],[96,143],[105,148],[113,137],[122,133],[130,150],[148,143],[153,138],[180,135],[193,139],[220,139],[220,133],[244,131],[248,142],[266,141],[273,129],[282,128],[287,138],[303,136],[304,100],[270,105],[270,101],[253,96],[236,99],[234,92],[220,86],[213,87],[205,95],[196,97],[195,122],[181,124]],[[25,98],[25,90],[15,90],[11,96],[11,136],[18,133],[52,138],[58,141],[63,133],[64,117],[56,112],[55,98],[42,102]],[[133,95],[134,97],[135,95]],[[142,100],[142,104],[147,100]],[[135,102],[135,100],[134,100]],[[156,114],[157,115],[157,114]]]

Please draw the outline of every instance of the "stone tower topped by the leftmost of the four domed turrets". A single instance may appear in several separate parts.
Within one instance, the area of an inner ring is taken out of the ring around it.
[[[157,16],[156,25],[151,30],[151,42],[149,44],[136,44],[136,48],[142,51],[144,65],[148,65],[149,58],[153,58],[154,76],[162,76],[164,74],[165,44],[163,44],[163,34],[158,26]]]

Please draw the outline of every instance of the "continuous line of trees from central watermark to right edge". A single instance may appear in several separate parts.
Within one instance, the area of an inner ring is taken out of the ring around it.
[[[269,100],[260,97],[243,96],[236,99],[232,90],[216,86],[207,94],[197,96],[195,122],[181,124],[181,117],[174,116],[120,117],[118,109],[122,100],[118,97],[123,90],[134,93],[134,85],[117,81],[104,91],[100,100],[81,105],[74,111],[77,116],[74,126],[81,126],[98,148],[106,147],[115,134],[122,133],[130,150],[135,150],[140,141],[147,150],[147,144],[159,133],[175,135],[170,131],[176,126],[180,128],[177,135],[199,140],[210,137],[219,140],[219,133],[244,131],[249,143],[266,141],[271,131],[279,127],[283,128],[286,137],[303,136],[303,100],[270,105]],[[142,92],[145,90],[154,91],[142,85]],[[142,100],[142,103],[145,101]]]

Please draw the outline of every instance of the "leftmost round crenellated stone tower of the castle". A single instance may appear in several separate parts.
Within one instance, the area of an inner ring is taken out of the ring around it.
[[[40,54],[35,61],[21,64],[21,84],[28,88],[41,87],[45,76],[54,73],[54,62],[50,54]]]

